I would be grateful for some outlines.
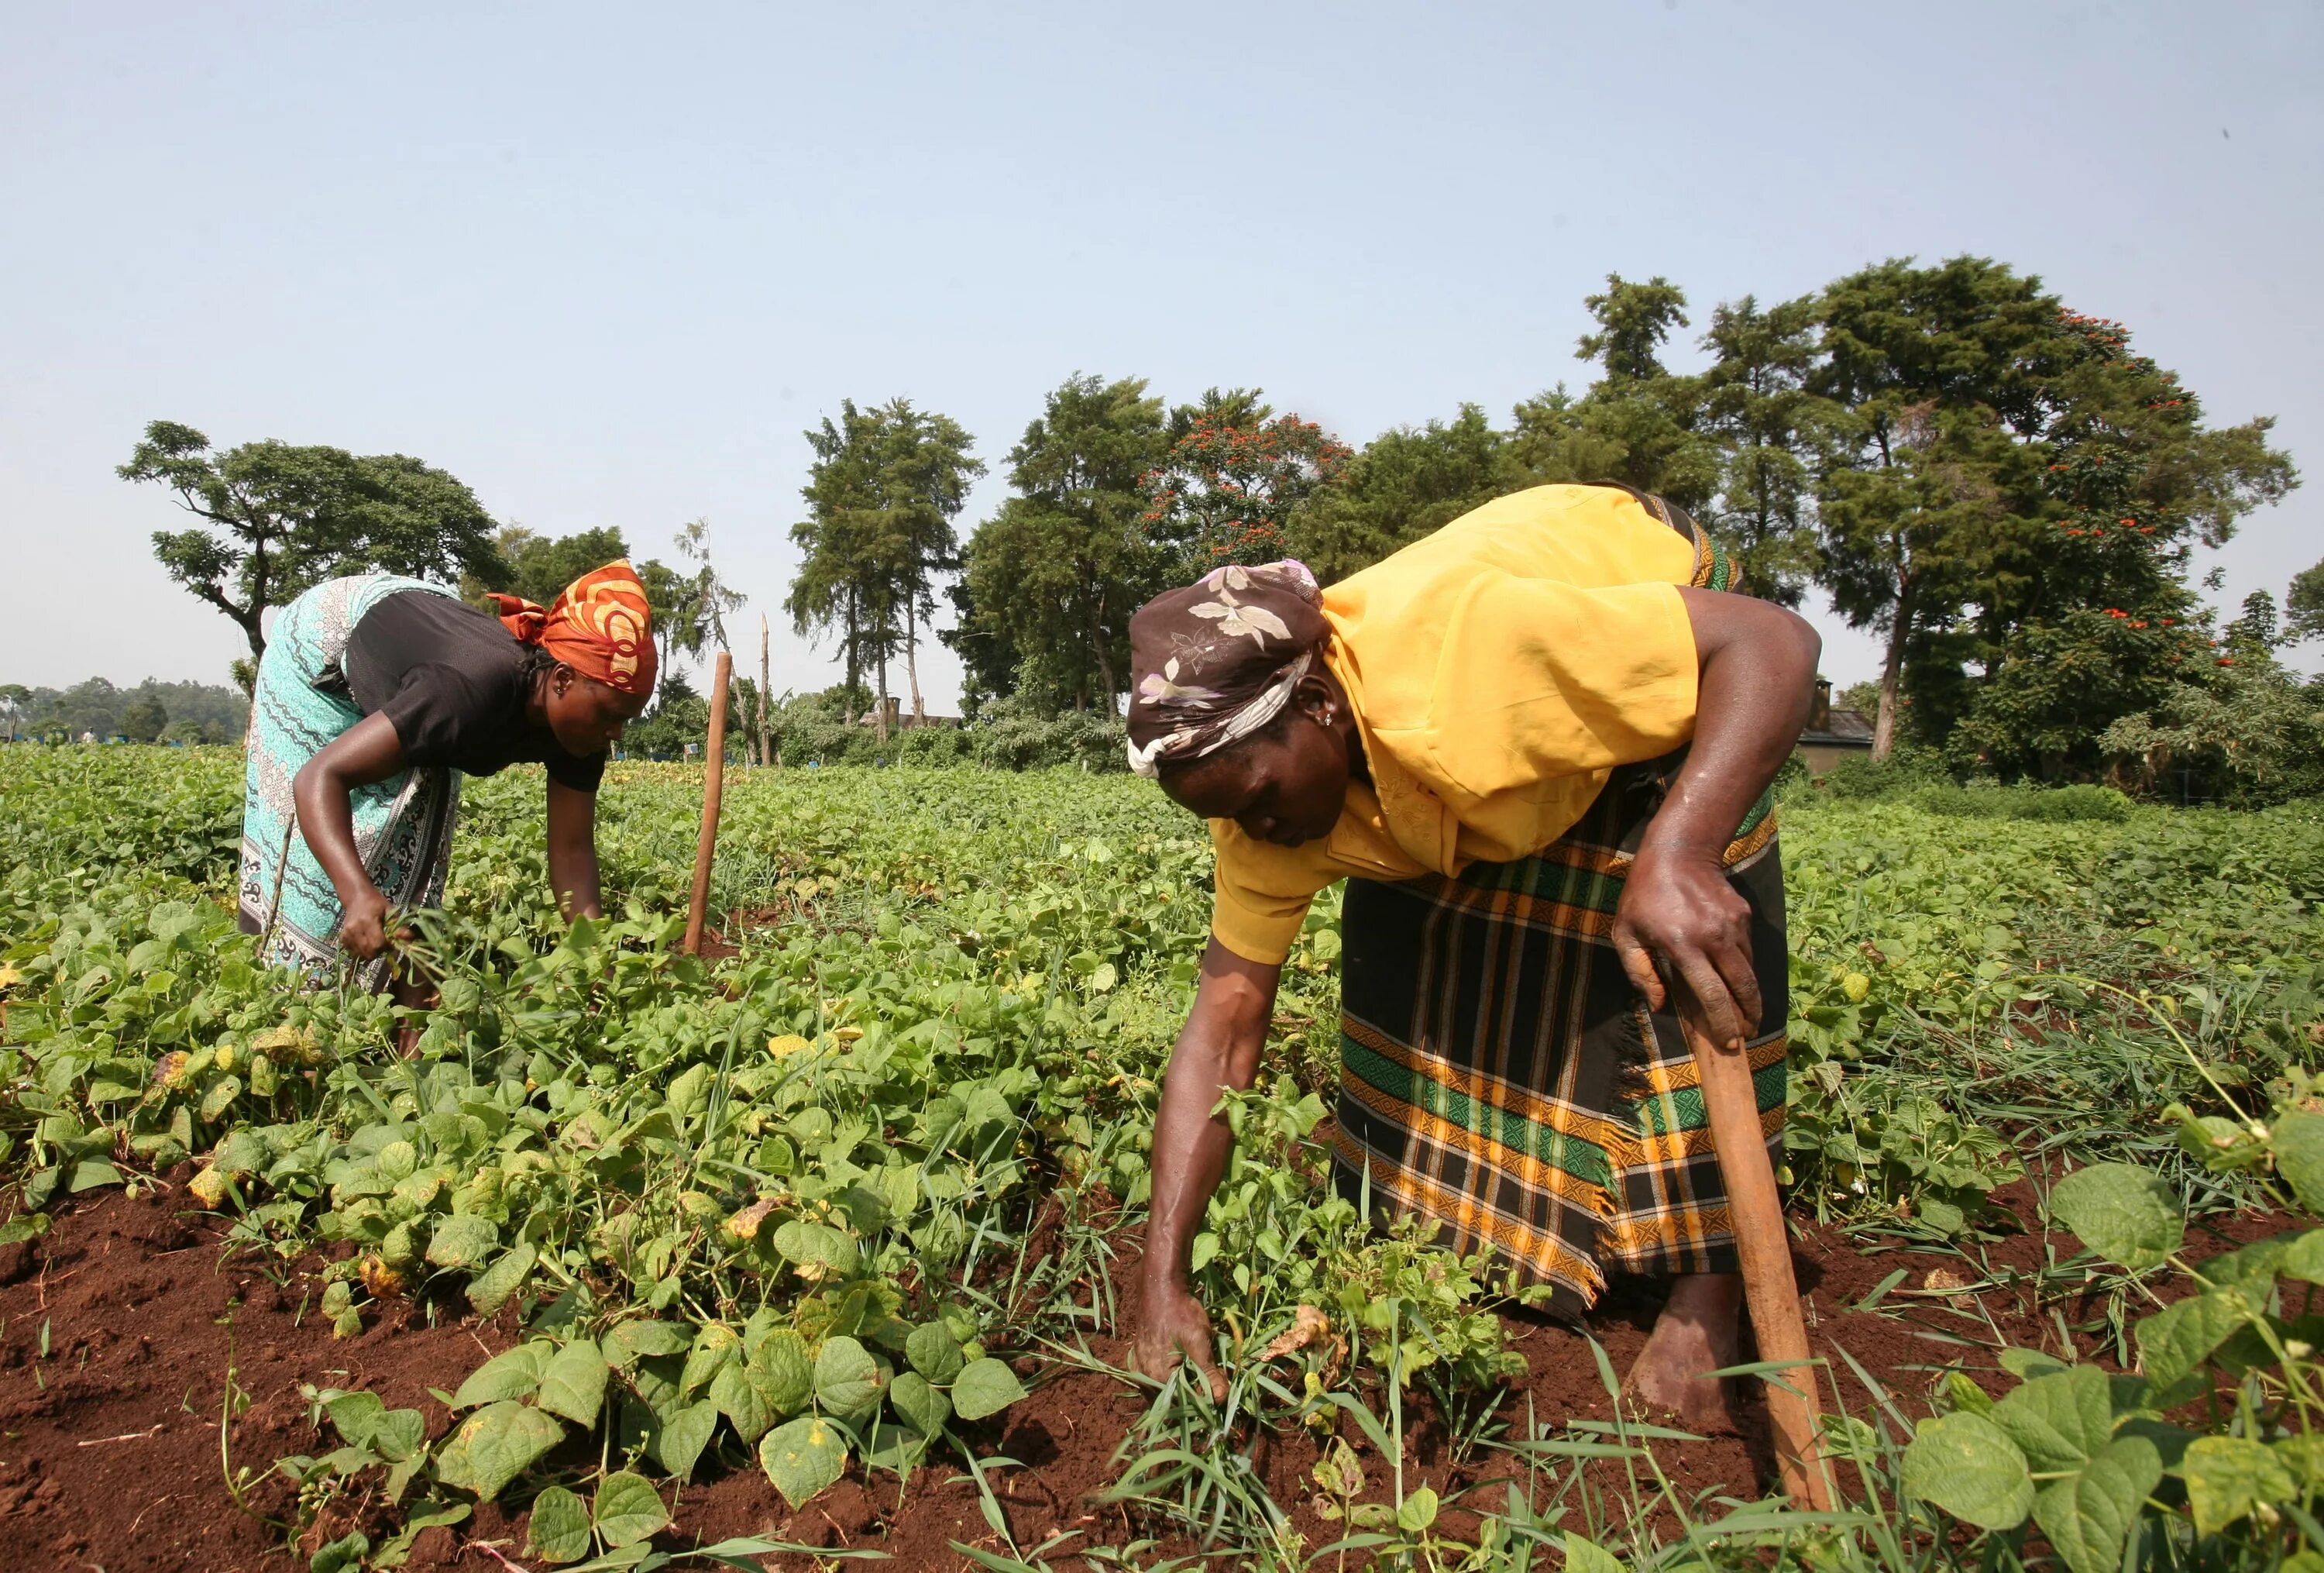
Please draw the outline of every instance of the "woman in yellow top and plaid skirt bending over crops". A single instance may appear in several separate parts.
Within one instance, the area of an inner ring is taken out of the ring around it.
[[[1211,820],[1218,892],[1153,1145],[1139,1364],[1213,1369],[1188,1245],[1308,902],[1346,878],[1334,1166],[1578,1310],[1671,1278],[1631,1389],[1724,1403],[1741,1278],[1673,1011],[1750,1053],[1783,1129],[1783,874],[1766,788],[1820,641],[1729,595],[1683,511],[1501,497],[1327,590],[1225,567],[1129,625],[1129,762]]]

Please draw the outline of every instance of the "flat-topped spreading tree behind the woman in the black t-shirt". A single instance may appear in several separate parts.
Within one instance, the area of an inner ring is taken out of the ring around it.
[[[476,495],[404,453],[272,439],[214,453],[191,425],[153,421],[116,474],[167,486],[202,520],[156,530],[153,555],[170,579],[235,620],[251,646],[237,676],[249,681],[267,648],[267,609],[325,579],[386,569],[453,583],[507,572]]]

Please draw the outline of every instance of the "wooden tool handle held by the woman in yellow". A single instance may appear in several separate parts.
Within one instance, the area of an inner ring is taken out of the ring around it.
[[[1831,1510],[1831,1478],[1824,1473],[1815,1422],[1815,1369],[1808,1359],[1808,1324],[1799,1313],[1799,1280],[1792,1278],[1792,1236],[1783,1224],[1776,1166],[1759,1129],[1759,1099],[1750,1085],[1750,1060],[1717,1048],[1680,1015],[1687,1050],[1703,1078],[1710,1141],[1727,1176],[1736,1250],[1743,1257],[1743,1303],[1759,1338],[1759,1359],[1799,1362],[1794,1371],[1766,1378],[1766,1413],[1776,1429],[1776,1461],[1785,1494],[1815,1513]],[[1789,1387],[1785,1387],[1787,1382]],[[1796,1389],[1796,1392],[1794,1392]]]

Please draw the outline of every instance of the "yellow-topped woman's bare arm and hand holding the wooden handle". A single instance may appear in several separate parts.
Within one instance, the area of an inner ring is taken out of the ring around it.
[[[1773,602],[1692,586],[1678,595],[1701,660],[1694,744],[1638,843],[1613,943],[1648,1004],[1664,1004],[1662,957],[1687,983],[1678,1006],[1701,1013],[1713,1043],[1741,1048],[1759,1029],[1759,981],[1750,908],[1720,860],[1799,744],[1822,639]]]

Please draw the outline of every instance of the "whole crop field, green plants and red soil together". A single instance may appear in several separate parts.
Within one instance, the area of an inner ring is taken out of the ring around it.
[[[1789,790],[1787,1180],[1855,1501],[1810,1522],[1764,1436],[1620,1413],[1645,1287],[1548,1324],[1329,1194],[1325,904],[1195,1248],[1229,1399],[1122,1373],[1208,913],[1143,783],[737,774],[704,960],[700,769],[611,771],[616,915],[574,929],[537,774],[469,783],[402,1060],[386,1001],[253,971],[239,769],[0,750],[37,1566],[2324,1573],[2315,806]]]

